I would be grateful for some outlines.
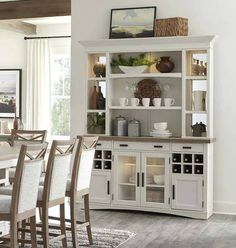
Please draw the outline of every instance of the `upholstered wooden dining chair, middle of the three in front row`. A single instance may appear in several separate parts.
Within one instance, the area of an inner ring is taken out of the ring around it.
[[[65,229],[65,195],[67,178],[70,172],[70,160],[74,149],[75,140],[53,141],[43,186],[39,186],[37,207],[41,209],[42,218],[42,243],[44,248],[49,247],[49,243],[62,240],[63,248],[67,247]],[[49,208],[60,206],[60,229],[61,234],[49,233],[48,211]],[[49,240],[49,236],[54,237]]]

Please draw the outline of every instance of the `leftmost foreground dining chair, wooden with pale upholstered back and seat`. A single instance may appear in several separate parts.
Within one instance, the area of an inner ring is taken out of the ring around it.
[[[0,221],[10,222],[10,236],[0,237],[0,247],[19,247],[18,224],[30,219],[31,247],[37,248],[35,215],[39,179],[47,143],[22,145],[16,166],[16,179],[11,195],[0,195]]]

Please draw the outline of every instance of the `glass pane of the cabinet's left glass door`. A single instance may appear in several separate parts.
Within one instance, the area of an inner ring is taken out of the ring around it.
[[[118,157],[118,200],[136,200],[136,157]]]

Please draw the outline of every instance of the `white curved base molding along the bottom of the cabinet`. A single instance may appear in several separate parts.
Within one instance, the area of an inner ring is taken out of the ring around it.
[[[82,208],[82,206],[81,206]],[[152,209],[152,208],[141,208],[141,207],[124,207],[124,206],[108,206],[105,204],[90,203],[91,210],[132,210],[132,211],[146,211],[152,213],[161,214],[171,214],[178,215],[182,217],[188,217],[193,219],[207,220],[211,217],[213,212],[198,212],[198,211],[183,211],[183,210],[173,210],[173,209]]]

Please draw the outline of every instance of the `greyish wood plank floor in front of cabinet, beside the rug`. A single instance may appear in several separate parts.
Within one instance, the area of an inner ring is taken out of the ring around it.
[[[121,248],[236,248],[236,216],[195,220],[133,211],[91,210],[92,227],[128,230]]]

